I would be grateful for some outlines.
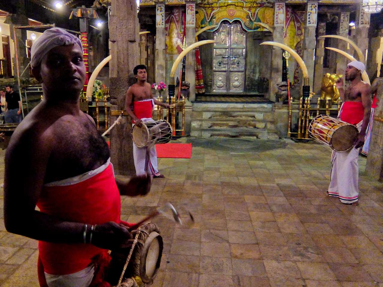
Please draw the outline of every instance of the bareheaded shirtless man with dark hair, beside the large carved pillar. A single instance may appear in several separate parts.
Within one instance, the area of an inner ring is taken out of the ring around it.
[[[154,99],[151,85],[146,82],[147,69],[145,65],[138,65],[133,70],[137,83],[131,85],[126,92],[125,109],[132,117],[133,123],[141,127],[144,122],[154,122],[152,111],[154,105],[169,108],[170,105]],[[133,106],[133,111],[132,111]],[[154,178],[164,178],[157,168],[157,152],[154,145],[137,147],[133,142],[133,158],[136,167],[136,175],[151,173]]]

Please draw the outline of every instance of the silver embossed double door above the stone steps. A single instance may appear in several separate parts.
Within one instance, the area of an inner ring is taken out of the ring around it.
[[[213,92],[241,93],[245,86],[246,32],[239,22],[223,22],[214,33]]]

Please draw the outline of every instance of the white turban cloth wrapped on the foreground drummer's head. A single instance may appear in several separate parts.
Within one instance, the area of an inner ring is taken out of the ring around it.
[[[83,52],[81,41],[76,36],[68,33],[61,28],[51,28],[44,31],[36,42],[33,43],[31,49],[31,66],[38,67],[41,60],[53,48],[62,45],[79,45]]]

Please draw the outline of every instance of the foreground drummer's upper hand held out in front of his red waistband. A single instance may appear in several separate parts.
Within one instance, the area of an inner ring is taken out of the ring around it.
[[[150,174],[133,176],[129,181],[116,179],[116,183],[121,195],[143,196],[150,191],[152,176]]]

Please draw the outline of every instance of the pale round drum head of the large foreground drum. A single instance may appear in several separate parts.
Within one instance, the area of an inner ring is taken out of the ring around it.
[[[140,258],[140,277],[142,282],[151,284],[160,267],[164,243],[161,235],[151,232],[142,248]]]

